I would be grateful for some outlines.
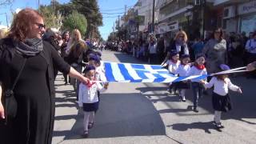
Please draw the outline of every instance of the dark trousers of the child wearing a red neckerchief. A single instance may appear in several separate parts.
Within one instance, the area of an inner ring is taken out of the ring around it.
[[[199,82],[192,82],[194,108],[198,107],[198,99],[202,98],[204,87]]]

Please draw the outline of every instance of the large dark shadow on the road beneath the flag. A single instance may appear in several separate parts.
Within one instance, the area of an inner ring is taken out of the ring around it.
[[[54,131],[54,136],[66,139],[82,138],[83,114],[57,116],[55,120],[74,119],[71,130]],[[102,94],[94,128],[89,138],[166,135],[166,128],[158,111],[141,94]]]

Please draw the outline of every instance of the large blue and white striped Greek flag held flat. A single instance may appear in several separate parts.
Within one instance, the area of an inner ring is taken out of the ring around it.
[[[207,77],[207,75],[177,77],[160,65],[104,62],[104,66],[108,82],[179,82]]]

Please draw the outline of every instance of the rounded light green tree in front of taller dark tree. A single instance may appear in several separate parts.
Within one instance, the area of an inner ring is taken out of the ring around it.
[[[66,19],[63,20],[62,29],[67,30],[80,30],[81,34],[86,34],[87,20],[83,14],[79,14],[78,11],[73,11],[72,14],[69,14]]]

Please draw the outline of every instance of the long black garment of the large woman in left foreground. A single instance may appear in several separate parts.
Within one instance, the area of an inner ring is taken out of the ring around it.
[[[3,90],[14,82],[19,71],[18,67],[21,66],[23,60],[24,57],[16,52],[12,39],[0,40],[0,81]],[[27,58],[21,78],[14,88],[14,93],[18,91],[17,94],[15,93],[18,114],[16,118],[10,119],[7,126],[4,126],[0,120],[0,143],[51,143],[55,111],[54,66],[57,66],[58,70],[64,74],[70,72],[70,66],[48,42],[43,42],[43,51],[40,54]],[[45,72],[40,71],[42,67]],[[37,75],[33,76],[38,73],[42,74],[41,80],[37,78]],[[31,80],[31,77],[34,79]],[[35,86],[31,82],[34,82]]]

